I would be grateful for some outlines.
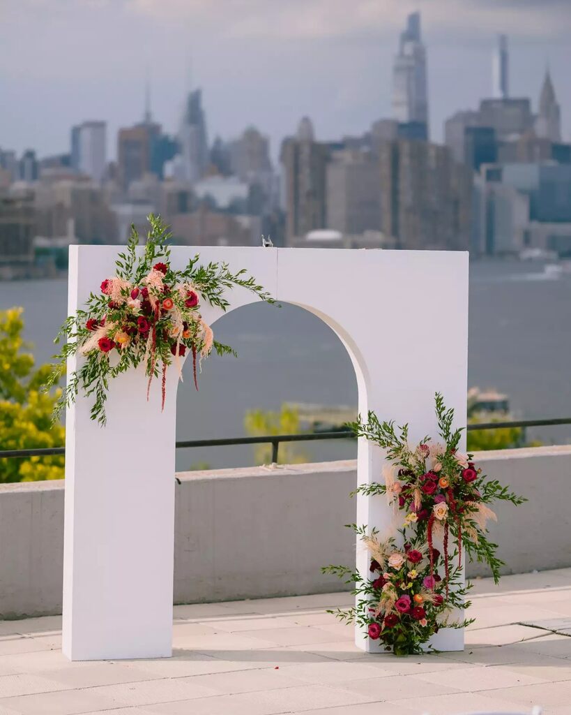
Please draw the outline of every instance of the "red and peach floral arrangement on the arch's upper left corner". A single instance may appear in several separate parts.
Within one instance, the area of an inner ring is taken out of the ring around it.
[[[197,364],[216,350],[231,353],[228,345],[214,340],[212,328],[201,316],[208,303],[222,310],[228,307],[224,291],[242,286],[261,300],[274,302],[263,287],[245,270],[232,273],[226,263],[200,265],[196,255],[183,270],[171,267],[171,238],[160,217],[148,217],[150,230],[142,255],[138,257],[138,233],[133,226],[127,250],[118,256],[116,274],[105,278],[98,295],[91,293],[84,310],[67,318],[55,342],[67,342],[56,355],[46,389],[59,382],[70,355],[85,359],[71,374],[54,410],[54,419],[76,399],[79,389],[94,396],[91,419],[106,423],[105,403],[108,381],[143,363],[148,375],[147,399],[153,378],[161,376],[162,407],[166,399],[166,371],[171,364],[181,376],[181,360],[190,351],[196,388]]]

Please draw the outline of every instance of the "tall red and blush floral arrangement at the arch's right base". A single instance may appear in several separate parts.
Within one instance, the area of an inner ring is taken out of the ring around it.
[[[369,550],[371,575],[343,566],[323,569],[355,583],[355,608],[335,615],[355,621],[396,655],[420,653],[439,628],[463,628],[472,622],[452,618],[454,611],[470,605],[465,601],[470,586],[463,586],[463,549],[469,558],[487,563],[497,583],[503,562],[496,556],[497,544],[487,538],[486,523],[496,520],[489,505],[526,501],[488,479],[473,455],[460,452],[462,430],[453,429],[454,411],[445,408],[438,393],[435,408],[439,442],[427,436],[411,446],[408,425],[381,423],[373,412],[366,422],[358,418],[349,425],[355,435],[382,448],[387,460],[384,483],[363,484],[354,493],[385,495],[403,512],[399,533],[404,546],[398,549],[393,538],[379,541],[375,531],[353,524]]]

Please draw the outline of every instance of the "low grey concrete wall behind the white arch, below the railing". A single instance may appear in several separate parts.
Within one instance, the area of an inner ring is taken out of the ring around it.
[[[571,446],[484,452],[485,472],[530,501],[500,504],[490,535],[505,573],[571,566]],[[354,461],[178,474],[176,603],[337,591],[353,563]],[[119,477],[118,477],[119,478]],[[0,617],[61,612],[64,482],[0,485]],[[468,576],[484,576],[482,564]]]

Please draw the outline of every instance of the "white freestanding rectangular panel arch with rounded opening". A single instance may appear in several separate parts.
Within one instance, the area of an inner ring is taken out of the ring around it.
[[[114,274],[120,250],[70,247],[70,315]],[[438,390],[464,426],[467,253],[175,247],[173,267],[197,252],[201,262],[246,268],[278,300],[304,307],[333,328],[353,360],[360,413],[371,409],[398,424],[408,421],[411,440],[418,440],[435,433]],[[243,289],[229,297],[231,309],[253,302]],[[220,315],[203,309],[209,323]],[[75,367],[74,358],[69,370]],[[163,413],[158,381],[146,401],[142,369],[111,383],[106,428],[91,422],[90,405],[79,395],[67,412],[63,651],[71,660],[170,656],[175,370],[168,374]],[[377,480],[381,463],[380,450],[360,440],[360,483]],[[356,521],[388,532],[400,526],[402,515],[395,518],[383,499],[359,497]],[[357,566],[368,568],[360,549]],[[439,649],[463,648],[463,631],[441,631],[437,638]],[[360,633],[355,642],[378,648]]]

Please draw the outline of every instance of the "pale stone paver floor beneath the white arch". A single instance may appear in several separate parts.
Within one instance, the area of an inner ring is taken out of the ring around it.
[[[465,651],[408,658],[355,647],[347,593],[177,606],[172,659],[70,663],[59,616],[0,621],[0,715],[571,715],[571,569],[473,593]]]

